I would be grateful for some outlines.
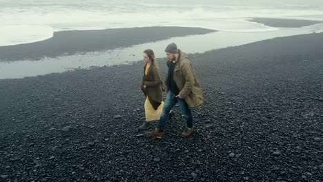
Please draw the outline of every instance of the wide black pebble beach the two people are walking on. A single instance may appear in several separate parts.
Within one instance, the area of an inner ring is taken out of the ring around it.
[[[136,137],[142,62],[2,80],[1,180],[323,181],[322,50],[306,34],[190,54],[205,103],[189,139],[179,113],[161,141]]]

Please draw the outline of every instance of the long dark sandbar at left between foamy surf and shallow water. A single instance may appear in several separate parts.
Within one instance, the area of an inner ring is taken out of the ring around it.
[[[215,32],[215,30],[182,27],[148,27],[55,32],[54,37],[45,41],[0,46],[0,61],[38,60],[43,57],[58,57],[63,54],[112,50],[150,41],[169,39],[170,37],[184,37],[210,32]]]

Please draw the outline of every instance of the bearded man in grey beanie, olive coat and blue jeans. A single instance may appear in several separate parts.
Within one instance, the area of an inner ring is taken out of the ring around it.
[[[165,52],[168,59],[168,75],[165,81],[167,95],[164,110],[156,130],[146,132],[146,134],[161,139],[164,134],[168,114],[175,104],[178,103],[187,125],[187,130],[182,133],[182,136],[188,137],[193,133],[191,109],[195,109],[202,104],[202,91],[199,87],[195,70],[188,60],[188,54],[177,49],[175,43],[170,43],[166,47]]]

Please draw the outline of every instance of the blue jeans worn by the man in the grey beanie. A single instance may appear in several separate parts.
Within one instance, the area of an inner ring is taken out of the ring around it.
[[[165,104],[164,104],[164,110],[161,113],[160,121],[157,125],[158,130],[164,130],[166,126],[166,121],[168,120],[168,115],[170,110],[172,110],[175,106],[175,104],[178,103],[179,107],[182,110],[182,114],[184,115],[186,119],[186,125],[188,129],[193,129],[193,117],[192,117],[192,111],[188,107],[185,99],[179,99],[175,98],[175,95],[173,92],[168,91],[165,99]]]

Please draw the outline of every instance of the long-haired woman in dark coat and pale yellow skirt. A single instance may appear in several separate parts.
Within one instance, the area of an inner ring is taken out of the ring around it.
[[[153,50],[148,49],[144,51],[144,61],[144,77],[142,79],[141,90],[146,96],[146,121],[139,127],[139,130],[144,130],[148,128],[152,121],[159,120],[164,108],[163,82],[160,79],[159,67]]]

